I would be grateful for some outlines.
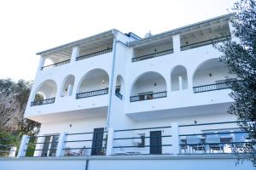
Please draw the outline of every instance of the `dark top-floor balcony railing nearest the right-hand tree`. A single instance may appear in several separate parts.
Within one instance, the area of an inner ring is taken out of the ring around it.
[[[187,50],[187,49],[191,49],[191,48],[199,48],[201,46],[206,46],[209,44],[213,44],[213,43],[217,43],[217,42],[224,42],[224,41],[228,41],[230,40],[231,36],[224,36],[224,37],[216,37],[207,41],[203,41],[203,42],[195,42],[189,45],[184,45],[181,48],[181,51]]]

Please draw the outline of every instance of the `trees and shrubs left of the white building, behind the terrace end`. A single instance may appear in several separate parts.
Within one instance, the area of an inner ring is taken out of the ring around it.
[[[31,87],[32,83],[24,80],[0,79],[0,128],[13,123],[20,133],[38,133],[40,124],[24,117]]]

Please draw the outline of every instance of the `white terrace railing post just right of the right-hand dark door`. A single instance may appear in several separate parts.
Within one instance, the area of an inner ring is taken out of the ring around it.
[[[172,154],[179,154],[179,132],[177,122],[172,122]]]

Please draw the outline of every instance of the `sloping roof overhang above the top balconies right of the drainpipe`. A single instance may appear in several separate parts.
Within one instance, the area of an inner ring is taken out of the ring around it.
[[[143,45],[143,44],[147,44],[148,42],[157,41],[157,40],[162,39],[162,38],[171,37],[171,36],[186,32],[186,31],[201,28],[202,26],[210,26],[211,24],[218,23],[219,21],[222,21],[222,20],[230,20],[230,17],[234,16],[235,14],[236,13],[224,14],[224,15],[218,16],[216,18],[212,18],[212,19],[209,19],[209,20],[204,20],[204,21],[201,21],[201,22],[197,22],[197,23],[189,25],[189,26],[183,26],[183,27],[171,30],[171,31],[166,31],[166,32],[163,32],[163,33],[160,33],[160,34],[156,34],[156,35],[151,36],[151,37],[145,37],[143,39],[140,39],[140,40],[137,40],[137,41],[134,41],[134,42],[128,42],[127,45],[129,47],[140,46],[140,45]]]

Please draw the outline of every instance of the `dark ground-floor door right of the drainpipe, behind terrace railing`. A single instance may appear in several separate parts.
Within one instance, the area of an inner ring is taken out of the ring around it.
[[[162,154],[161,131],[150,132],[150,154]]]

